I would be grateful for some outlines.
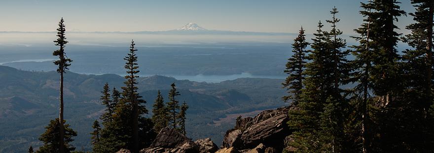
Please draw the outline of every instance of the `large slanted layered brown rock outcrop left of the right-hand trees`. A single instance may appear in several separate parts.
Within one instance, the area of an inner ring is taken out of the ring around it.
[[[222,148],[233,147],[244,153],[264,153],[266,149],[282,152],[285,138],[292,133],[287,125],[290,109],[293,108],[283,107],[263,111],[254,118],[238,118],[234,129],[226,132]]]

